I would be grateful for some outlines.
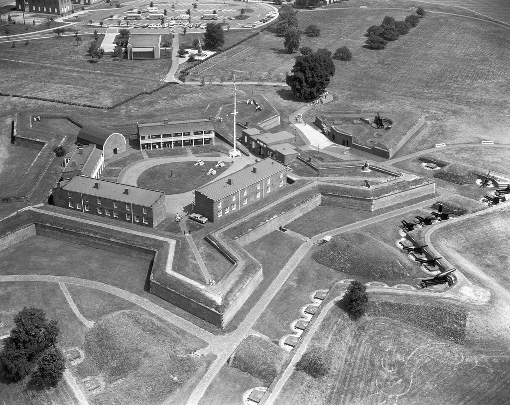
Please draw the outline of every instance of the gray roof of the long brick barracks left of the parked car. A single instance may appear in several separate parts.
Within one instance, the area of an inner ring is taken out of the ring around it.
[[[96,183],[99,184],[99,188],[96,187]],[[83,175],[74,176],[67,182],[60,182],[60,186],[62,190],[65,191],[74,191],[99,198],[109,198],[143,207],[151,207],[162,195],[165,195],[165,193],[161,191],[149,190],[106,180],[91,179]],[[125,189],[129,189],[129,194],[125,194]]]

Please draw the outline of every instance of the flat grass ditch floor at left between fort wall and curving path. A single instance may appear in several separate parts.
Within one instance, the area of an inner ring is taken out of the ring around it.
[[[149,262],[63,240],[33,236],[0,252],[0,268],[4,269],[4,274],[79,277],[136,293],[144,289]]]

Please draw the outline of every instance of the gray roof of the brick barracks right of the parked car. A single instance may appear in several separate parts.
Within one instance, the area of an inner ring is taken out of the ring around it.
[[[253,172],[254,167],[257,168],[256,173]],[[213,201],[218,201],[286,169],[287,166],[274,159],[266,158],[195,191],[211,198]],[[228,184],[228,179],[232,179],[232,184]]]

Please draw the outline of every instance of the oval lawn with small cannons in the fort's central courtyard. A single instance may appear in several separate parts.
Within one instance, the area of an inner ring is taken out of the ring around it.
[[[230,165],[225,163],[223,167],[214,167],[214,162],[204,162],[203,166],[195,166],[193,162],[165,163],[142,172],[137,185],[163,191],[166,195],[181,194],[214,180]],[[207,175],[210,168],[216,170],[216,175]],[[170,171],[172,171],[172,177],[170,177]]]

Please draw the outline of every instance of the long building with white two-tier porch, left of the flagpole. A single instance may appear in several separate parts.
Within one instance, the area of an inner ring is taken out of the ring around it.
[[[214,145],[214,126],[210,119],[155,122],[138,124],[138,140],[141,149],[175,146]]]

